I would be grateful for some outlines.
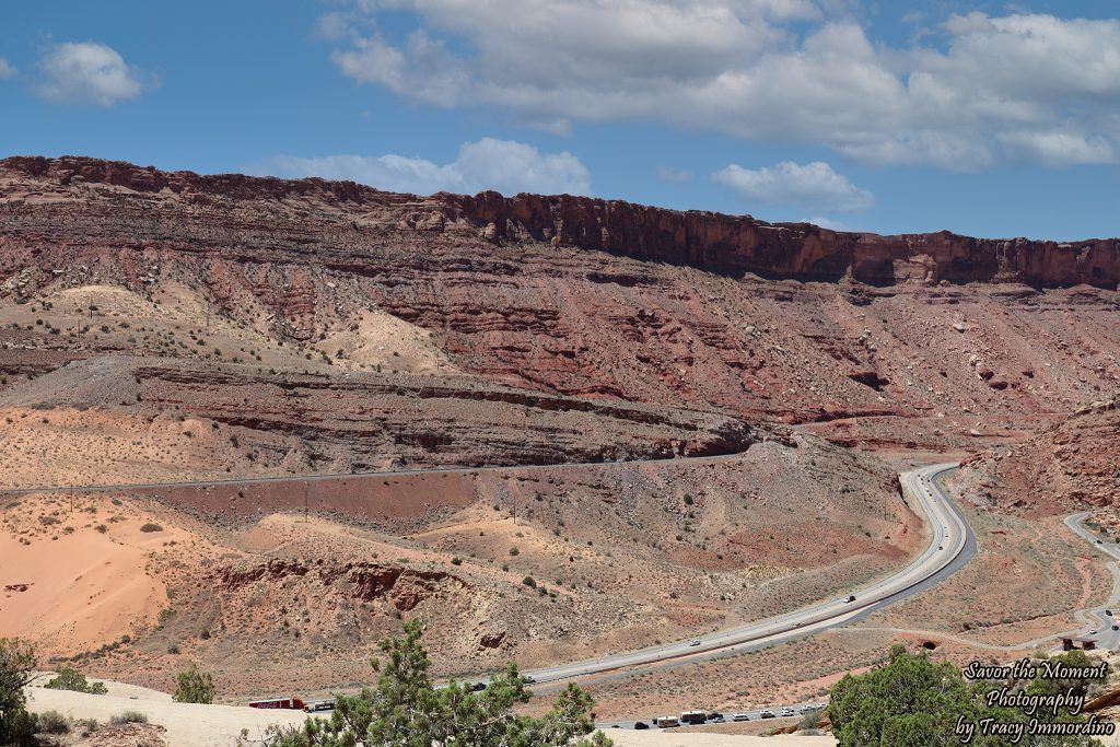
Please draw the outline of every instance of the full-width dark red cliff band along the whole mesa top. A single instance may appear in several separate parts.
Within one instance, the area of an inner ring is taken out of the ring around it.
[[[473,197],[437,194],[424,199],[352,181],[200,176],[78,157],[13,157],[0,161],[0,168],[60,186],[102,183],[136,192],[193,194],[200,199],[205,195],[284,199],[314,194],[335,204],[417,205],[419,209],[401,218],[412,228],[444,231],[448,222],[466,222],[482,227],[488,241],[548,241],[732,274],[821,281],[849,277],[875,286],[913,280],[1037,287],[1088,283],[1114,288],[1120,283],[1120,241],[1116,239],[1060,243],[973,239],[948,231],[880,236],[569,195],[503,197],[486,192]]]

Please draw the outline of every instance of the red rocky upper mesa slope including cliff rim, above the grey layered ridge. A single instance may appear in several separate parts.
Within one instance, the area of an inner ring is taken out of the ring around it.
[[[0,306],[35,309],[20,321],[0,308],[12,382],[91,347],[240,355],[208,336],[196,345],[212,317],[241,347],[254,340],[264,364],[448,365],[564,395],[795,422],[1068,411],[1120,381],[1114,241],[881,237],[82,158],[0,162]],[[183,301],[192,339],[112,324],[131,312],[110,324],[58,314],[63,297],[99,283],[127,289],[136,309]],[[385,319],[427,347],[410,358],[363,344]]]

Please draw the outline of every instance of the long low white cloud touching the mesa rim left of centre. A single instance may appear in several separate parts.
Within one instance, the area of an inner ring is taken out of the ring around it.
[[[436,192],[474,194],[485,189],[505,195],[519,192],[591,194],[591,174],[571,153],[542,153],[522,142],[493,138],[464,143],[458,158],[442,166],[423,158],[396,155],[279,156],[258,164],[251,172],[351,179],[388,192],[419,195]]]

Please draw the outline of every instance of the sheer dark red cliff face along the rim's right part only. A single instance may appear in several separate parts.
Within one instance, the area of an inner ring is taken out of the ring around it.
[[[492,225],[496,239],[548,240],[717,272],[822,281],[850,277],[875,286],[948,280],[1114,287],[1120,281],[1120,242],[1114,239],[986,240],[948,231],[879,236],[568,195],[440,198],[458,208],[455,217]]]

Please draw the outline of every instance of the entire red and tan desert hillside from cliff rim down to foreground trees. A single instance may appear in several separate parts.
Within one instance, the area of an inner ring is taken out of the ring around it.
[[[898,473],[970,454],[964,571],[603,712],[1018,651],[1110,592],[1053,514],[1114,497],[1116,410],[1065,420],[1120,385],[1113,240],[76,157],[0,161],[0,634],[52,664],[228,702],[368,682],[409,619],[440,676],[702,636],[896,571]]]

